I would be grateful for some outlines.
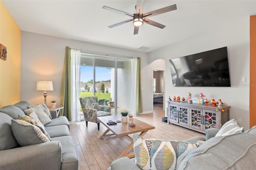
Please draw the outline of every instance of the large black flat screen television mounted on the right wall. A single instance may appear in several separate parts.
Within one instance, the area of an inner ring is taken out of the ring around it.
[[[170,59],[174,87],[230,87],[227,47]]]

